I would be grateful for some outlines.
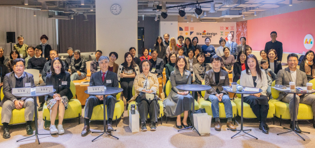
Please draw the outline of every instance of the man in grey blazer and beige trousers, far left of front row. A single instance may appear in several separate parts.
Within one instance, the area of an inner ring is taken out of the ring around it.
[[[12,116],[12,110],[25,108],[24,117],[26,121],[26,133],[33,134],[32,120],[34,115],[34,100],[33,98],[21,98],[12,95],[12,88],[34,87],[34,78],[32,74],[24,72],[24,59],[13,60],[13,72],[5,74],[3,79],[3,94],[4,97],[0,102],[2,107],[1,121],[3,124],[4,139],[10,138],[9,123]]]

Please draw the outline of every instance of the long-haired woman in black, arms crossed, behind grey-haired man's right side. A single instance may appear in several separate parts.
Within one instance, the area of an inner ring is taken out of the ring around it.
[[[126,110],[128,109],[128,101],[132,97],[132,87],[134,77],[139,74],[139,66],[134,63],[129,52],[125,53],[125,62],[118,68],[117,77],[123,90],[123,95],[126,99]]]

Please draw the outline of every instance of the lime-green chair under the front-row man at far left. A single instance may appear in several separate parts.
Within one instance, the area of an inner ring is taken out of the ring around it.
[[[1,100],[3,99],[3,92],[2,92],[2,88],[1,87]],[[11,116],[11,120],[10,120],[10,125],[11,124],[20,124],[20,123],[26,123],[25,121],[25,117],[24,117],[24,111],[25,108],[22,109],[14,109],[12,110],[12,116]],[[2,108],[0,107],[0,125],[2,125],[2,121],[1,121],[1,112],[2,112]],[[35,114],[34,114],[35,117]],[[33,117],[33,121],[34,121],[34,117]],[[37,110],[37,117],[38,117],[38,110]]]

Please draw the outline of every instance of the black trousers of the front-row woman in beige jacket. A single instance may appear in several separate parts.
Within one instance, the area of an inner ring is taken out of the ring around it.
[[[151,122],[158,122],[159,105],[157,99],[149,103],[148,100],[141,100],[141,97],[137,97],[136,102],[138,103],[138,111],[141,122],[148,120],[148,113],[150,115]]]

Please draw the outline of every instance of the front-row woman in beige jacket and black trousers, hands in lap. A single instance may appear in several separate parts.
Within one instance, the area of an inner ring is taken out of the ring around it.
[[[155,49],[153,49],[153,51],[153,53],[157,52]],[[162,59],[161,61],[163,62]],[[156,123],[158,122],[159,105],[156,93],[158,91],[159,82],[157,75],[150,73],[150,67],[152,67],[150,61],[141,61],[141,73],[136,75],[133,82],[135,95],[131,98],[131,100],[128,101],[128,103],[132,101],[136,101],[137,103],[137,110],[139,111],[141,121],[141,131],[147,131],[146,122],[148,121],[148,113],[151,118],[151,131],[157,130]],[[154,99],[148,101],[146,98],[148,95],[151,95],[151,97]]]

